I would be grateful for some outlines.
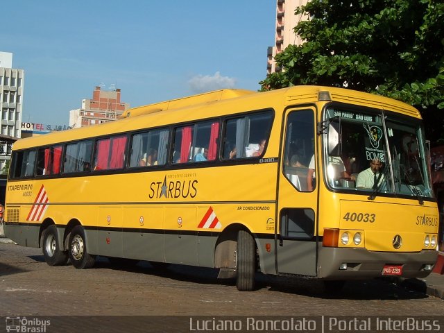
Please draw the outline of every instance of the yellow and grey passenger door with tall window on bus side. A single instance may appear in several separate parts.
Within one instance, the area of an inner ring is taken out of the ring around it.
[[[285,114],[275,244],[278,273],[316,276],[314,108]]]

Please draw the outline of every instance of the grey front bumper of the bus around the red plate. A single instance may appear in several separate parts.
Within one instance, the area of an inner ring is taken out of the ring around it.
[[[418,253],[373,252],[364,248],[319,249],[318,278],[325,280],[358,280],[385,276],[386,265],[402,266],[402,278],[425,278],[432,273],[438,257],[436,250]],[[344,264],[346,268],[344,268]],[[429,270],[426,270],[430,265]]]

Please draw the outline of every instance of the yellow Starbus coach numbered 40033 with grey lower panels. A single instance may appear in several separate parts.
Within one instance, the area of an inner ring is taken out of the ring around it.
[[[223,89],[18,140],[5,232],[52,266],[212,267],[240,291],[257,272],[422,278],[437,256],[428,165],[420,113],[399,101]]]

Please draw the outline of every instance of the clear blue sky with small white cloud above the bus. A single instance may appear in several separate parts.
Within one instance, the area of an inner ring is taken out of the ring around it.
[[[274,0],[1,1],[0,51],[24,69],[22,121],[69,126],[94,87],[134,108],[222,88],[259,89]]]

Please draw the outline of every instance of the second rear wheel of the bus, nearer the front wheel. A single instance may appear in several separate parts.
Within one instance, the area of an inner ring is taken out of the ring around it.
[[[96,259],[87,253],[85,231],[81,225],[76,225],[69,234],[69,259],[78,269],[91,268]]]

